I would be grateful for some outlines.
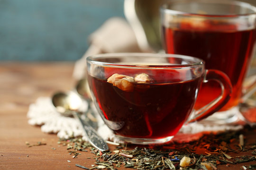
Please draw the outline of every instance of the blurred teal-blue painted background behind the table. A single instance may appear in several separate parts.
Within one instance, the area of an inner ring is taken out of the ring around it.
[[[0,0],[0,60],[76,60],[123,0]]]

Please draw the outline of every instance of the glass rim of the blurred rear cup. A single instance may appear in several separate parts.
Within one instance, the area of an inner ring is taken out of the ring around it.
[[[211,3],[211,4],[234,4],[240,7],[246,7],[251,9],[252,13],[245,13],[245,14],[199,14],[199,13],[193,13],[193,12],[183,12],[179,10],[173,10],[169,9],[167,5],[169,4],[182,4],[184,2],[198,2],[198,3]],[[243,1],[238,1],[238,0],[173,0],[173,1],[168,1],[167,3],[164,3],[160,6],[160,11],[162,14],[179,14],[179,15],[189,15],[189,16],[198,16],[198,17],[242,17],[242,16],[251,16],[256,14],[256,7],[253,6],[250,3],[243,2]]]

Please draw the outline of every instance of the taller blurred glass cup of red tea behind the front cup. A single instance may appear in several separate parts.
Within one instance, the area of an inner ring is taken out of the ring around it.
[[[160,11],[166,53],[203,59],[207,69],[218,69],[229,76],[233,93],[213,120],[234,121],[234,108],[240,102],[254,54],[256,7],[233,0],[169,0]],[[219,93],[221,87],[216,82],[203,84],[195,108]]]

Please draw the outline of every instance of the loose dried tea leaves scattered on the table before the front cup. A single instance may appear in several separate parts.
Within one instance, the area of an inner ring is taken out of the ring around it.
[[[251,144],[244,141],[243,150],[239,149],[241,134],[240,131],[208,134],[189,143],[173,142],[164,146],[135,147],[132,150],[128,148],[133,148],[134,145],[119,144],[112,152],[100,152],[88,142],[82,141],[82,138],[71,138],[59,144],[65,144],[68,153],[73,156],[81,154],[82,151],[87,152],[87,150],[94,154],[90,158],[95,159],[96,166],[92,165],[90,170],[101,170],[104,167],[104,169],[110,170],[117,170],[120,167],[137,170],[217,170],[219,165],[229,166],[230,164],[256,161],[255,155],[233,156],[232,153],[238,155],[238,153],[249,151],[248,153],[253,155],[256,152],[256,140]],[[237,149],[234,149],[236,147]],[[197,154],[197,148],[203,149],[202,154]],[[78,154],[78,152],[81,153]],[[186,166],[182,167],[180,163],[184,157],[189,158],[190,161],[187,161]],[[244,166],[244,168],[248,167]],[[250,169],[248,168],[248,170]]]

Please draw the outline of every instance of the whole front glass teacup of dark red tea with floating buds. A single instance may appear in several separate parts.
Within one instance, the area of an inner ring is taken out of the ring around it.
[[[202,59],[154,53],[99,54],[87,58],[91,96],[101,118],[120,139],[134,144],[165,143],[183,124],[225,105],[228,76],[205,69]],[[221,93],[194,110],[201,84],[216,81]]]

